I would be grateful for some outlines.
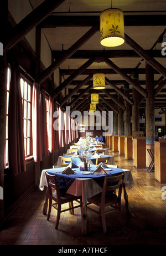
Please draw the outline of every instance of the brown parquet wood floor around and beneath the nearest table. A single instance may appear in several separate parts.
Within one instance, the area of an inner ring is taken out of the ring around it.
[[[109,152],[109,151],[108,151]],[[128,190],[129,211],[127,218],[122,199],[122,225],[116,212],[106,216],[108,233],[103,234],[100,217],[87,213],[87,235],[81,235],[80,209],[75,215],[61,214],[59,230],[55,230],[56,211],[50,221],[42,214],[45,192],[33,191],[8,217],[0,232],[0,245],[165,245],[166,199],[162,199],[162,187],[154,178],[154,171],[137,169],[133,161],[115,155],[118,167],[132,171],[133,187]],[[166,198],[166,195],[165,195]]]

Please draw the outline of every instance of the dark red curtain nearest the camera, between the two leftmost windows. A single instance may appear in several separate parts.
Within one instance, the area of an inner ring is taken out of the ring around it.
[[[8,157],[12,175],[26,171],[23,131],[23,106],[18,65],[11,64],[8,106]]]

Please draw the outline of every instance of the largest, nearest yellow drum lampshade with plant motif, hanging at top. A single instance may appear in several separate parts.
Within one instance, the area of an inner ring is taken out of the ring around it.
[[[109,8],[100,14],[100,43],[116,47],[125,42],[124,17],[121,9]]]

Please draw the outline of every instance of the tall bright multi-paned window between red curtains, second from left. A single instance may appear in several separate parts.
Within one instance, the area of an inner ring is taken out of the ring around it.
[[[20,79],[24,120],[25,158],[32,155],[32,85],[23,77]]]

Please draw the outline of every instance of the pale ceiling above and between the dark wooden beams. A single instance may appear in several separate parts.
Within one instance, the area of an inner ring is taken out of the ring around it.
[[[29,0],[29,2],[32,4],[33,9],[35,9],[44,1]],[[70,0],[60,4],[60,6],[41,23],[43,33],[48,40],[55,60],[59,58],[61,54],[64,54],[65,51],[68,51],[68,49],[95,24],[99,24],[100,13],[110,7],[110,0]],[[166,42],[165,0],[159,0],[157,2],[153,0],[112,0],[112,7],[120,8],[124,12],[125,34],[127,34],[129,38],[132,38],[143,50],[147,50],[150,57],[153,57],[166,68],[166,56],[164,57],[161,53],[162,40],[159,40],[160,35],[163,34],[163,42]],[[91,59],[91,57],[95,57],[95,62],[87,66],[81,74],[77,74],[72,79],[71,75]],[[98,60],[98,58],[100,59]],[[84,93],[79,99],[79,101],[82,100],[83,102],[83,100],[86,100],[89,93],[95,92],[103,96],[107,103],[112,104],[109,95],[116,96],[118,93],[109,83],[106,83],[106,89],[104,91],[94,89],[87,91],[88,86],[92,86],[91,78],[86,81],[86,84],[82,83],[79,90],[76,89],[81,81],[84,81],[89,74],[95,71],[105,73],[106,79],[123,91],[123,85],[126,80],[105,62],[105,58],[111,60],[111,63],[113,62],[123,73],[130,77],[132,71],[137,67],[139,85],[144,89],[146,88],[146,61],[126,42],[120,47],[104,48],[100,44],[100,32],[97,31],[84,44],[78,47],[74,54],[71,54],[69,58],[63,59],[59,64],[62,83],[64,80],[66,81],[66,84],[63,83],[63,85],[65,88],[68,87],[69,95],[72,96],[71,100],[76,99],[77,95]],[[158,81],[161,77],[162,74],[155,70],[154,80]],[[70,83],[67,83],[68,80],[66,79],[71,80]],[[160,81],[164,79],[165,77],[161,78]],[[155,88],[157,88],[157,86],[158,83]],[[132,85],[129,85],[129,89],[129,96],[132,99]],[[53,95],[56,96],[58,93],[55,89]],[[75,105],[71,105],[71,107],[76,106],[79,101],[75,101]],[[89,101],[84,101],[84,104],[87,102]],[[108,106],[106,102],[103,105]],[[62,99],[61,103],[64,106],[70,105],[69,100]],[[85,106],[86,104],[84,105],[84,110]],[[117,107],[116,103],[114,103],[114,106]],[[82,107],[82,105],[79,106],[79,108],[80,107]],[[89,109],[89,106],[86,107]],[[146,107],[144,97],[142,98],[140,107]],[[155,108],[159,109],[159,107],[166,107],[166,85],[155,97]]]

